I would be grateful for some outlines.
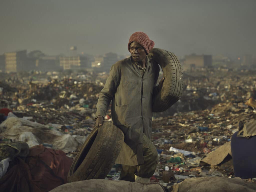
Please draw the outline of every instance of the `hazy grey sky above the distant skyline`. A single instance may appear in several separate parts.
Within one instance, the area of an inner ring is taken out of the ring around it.
[[[132,33],[185,54],[256,56],[256,0],[1,0],[0,54],[39,49],[128,55]]]

